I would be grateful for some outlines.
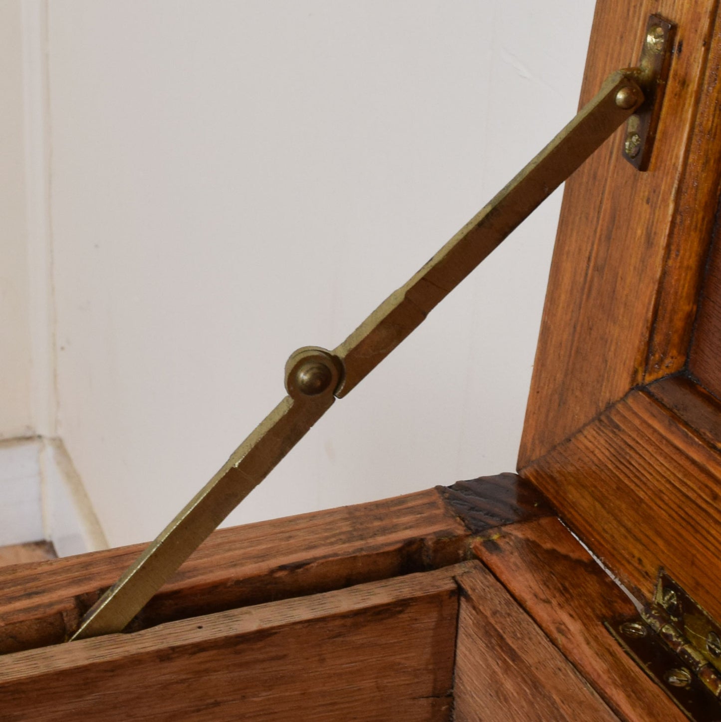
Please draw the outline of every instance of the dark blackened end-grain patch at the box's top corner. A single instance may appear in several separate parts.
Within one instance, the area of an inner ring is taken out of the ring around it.
[[[555,514],[546,497],[517,474],[479,477],[436,489],[473,534]]]

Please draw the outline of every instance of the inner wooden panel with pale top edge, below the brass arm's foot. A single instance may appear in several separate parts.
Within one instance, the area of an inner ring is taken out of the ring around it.
[[[3,656],[0,720],[447,720],[464,568]]]

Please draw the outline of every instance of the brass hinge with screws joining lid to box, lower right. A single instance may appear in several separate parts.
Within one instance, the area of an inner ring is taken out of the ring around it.
[[[636,617],[606,627],[689,719],[721,721],[721,625],[668,574]]]

